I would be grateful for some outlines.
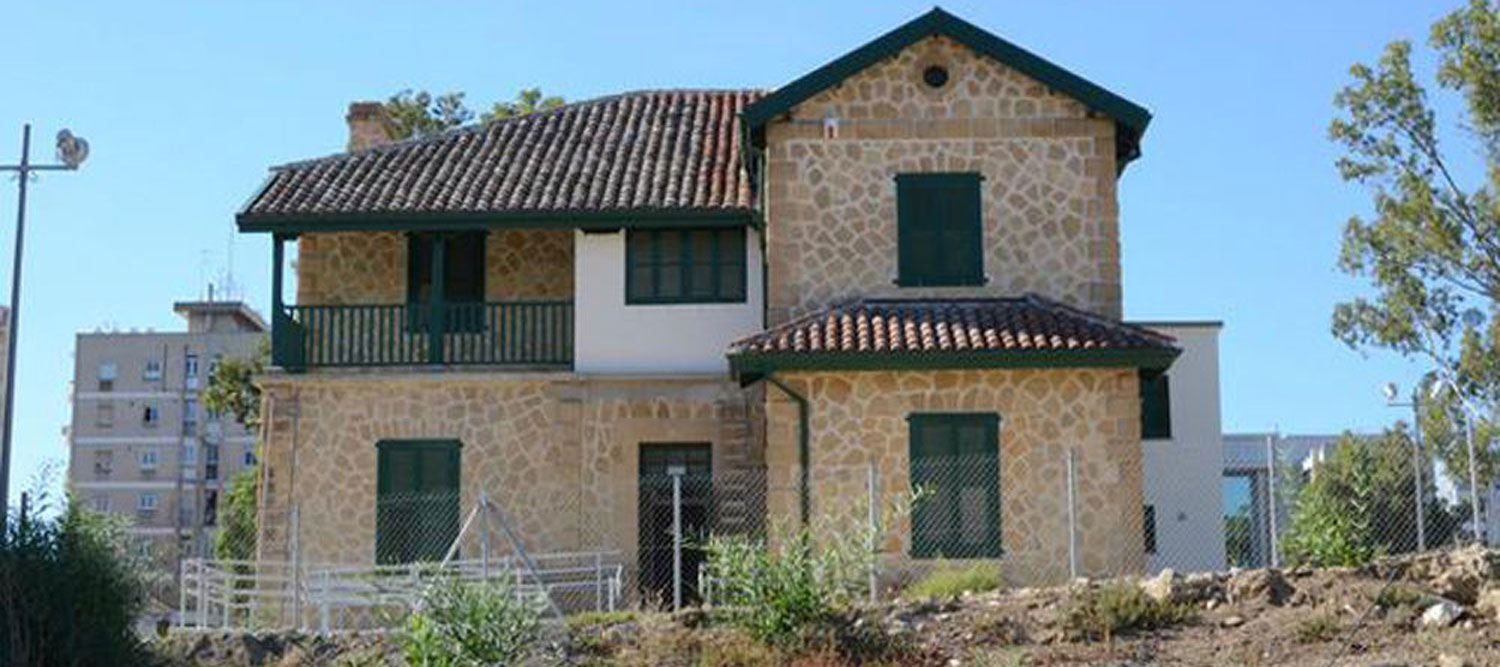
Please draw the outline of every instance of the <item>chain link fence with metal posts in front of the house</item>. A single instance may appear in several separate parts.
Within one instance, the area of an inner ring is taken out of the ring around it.
[[[711,553],[726,540],[852,546],[868,570],[858,600],[870,601],[954,568],[990,568],[1020,588],[1166,568],[1359,565],[1476,540],[1467,496],[1401,442],[1226,441],[1218,466],[1140,484],[1066,447],[806,472],[714,468],[704,450],[663,447],[642,454],[636,475],[580,474],[544,492],[502,484],[386,492],[356,510],[261,508],[255,531],[220,532],[213,558],[183,562],[177,622],[390,628],[440,576],[504,577],[554,616],[680,609],[723,592]]]

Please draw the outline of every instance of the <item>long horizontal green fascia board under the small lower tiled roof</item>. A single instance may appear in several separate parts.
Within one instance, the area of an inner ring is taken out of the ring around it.
[[[1178,348],[951,352],[734,352],[735,376],[778,370],[1166,369]]]

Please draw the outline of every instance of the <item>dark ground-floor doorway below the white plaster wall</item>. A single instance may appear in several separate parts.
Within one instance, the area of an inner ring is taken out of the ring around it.
[[[672,474],[681,474],[682,516],[682,604],[696,603],[698,568],[714,498],[712,448],[706,442],[642,444],[639,496],[640,597],[648,603],[672,604]]]

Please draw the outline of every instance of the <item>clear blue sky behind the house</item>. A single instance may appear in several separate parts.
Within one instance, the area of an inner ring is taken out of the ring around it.
[[[1452,3],[950,1],[944,7],[1155,114],[1120,184],[1128,318],[1222,319],[1227,430],[1368,430],[1418,367],[1329,336],[1360,291],[1334,262],[1368,196],[1324,136],[1356,60],[1424,39]],[[350,100],[522,87],[570,100],[777,87],[924,12],[918,1],[46,1],[6,7],[0,162],[21,123],[93,145],[32,189],[14,480],[66,457],[74,334],[177,328],[231,265],[262,312],[270,246],[232,214],[266,166],[338,151]],[[0,183],[9,274],[15,184]],[[0,277],[0,289],[4,286]],[[8,292],[0,292],[8,294]]]

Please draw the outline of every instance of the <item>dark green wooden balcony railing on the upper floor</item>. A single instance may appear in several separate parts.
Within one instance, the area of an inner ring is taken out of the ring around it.
[[[272,360],[339,366],[572,367],[573,301],[284,306]]]

